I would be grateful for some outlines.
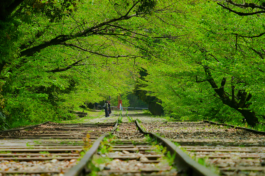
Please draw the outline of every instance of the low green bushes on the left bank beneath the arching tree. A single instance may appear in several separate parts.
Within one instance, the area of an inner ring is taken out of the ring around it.
[[[73,118],[64,109],[49,104],[45,101],[47,99],[47,94],[32,94],[28,91],[10,98],[6,102],[6,111],[9,112],[11,127]]]

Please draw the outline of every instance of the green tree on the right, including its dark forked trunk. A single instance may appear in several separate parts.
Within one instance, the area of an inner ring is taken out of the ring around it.
[[[185,4],[186,9],[174,16],[175,21],[178,21],[175,30],[183,33],[183,36],[174,42],[165,42],[173,50],[145,67],[150,76],[147,79],[148,87],[143,90],[153,90],[150,95],[159,95],[164,102],[173,106],[173,99],[169,100],[166,93],[162,97],[162,92],[157,88],[167,87],[167,90],[163,90],[175,94],[175,99],[181,97],[180,104],[184,102],[188,107],[190,104],[185,101],[187,96],[183,98],[176,90],[182,89],[188,93],[187,89],[193,89],[188,94],[189,97],[197,94],[193,102],[203,99],[200,92],[207,91],[208,96],[235,109],[249,125],[255,126],[259,123],[256,114],[262,116],[265,113],[262,100],[264,16],[239,18],[214,1],[179,3]],[[162,64],[154,72],[154,65],[160,65],[159,62],[165,65]],[[155,79],[152,74],[160,79]],[[176,80],[176,85],[171,84],[172,80],[164,82],[165,77]],[[181,88],[175,89],[179,85]],[[217,106],[216,101],[211,102]]]

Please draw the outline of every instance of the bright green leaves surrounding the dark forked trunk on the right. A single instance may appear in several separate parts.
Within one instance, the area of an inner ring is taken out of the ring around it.
[[[139,87],[145,91],[143,95],[161,99],[164,110],[175,119],[240,123],[241,114],[247,117],[242,109],[264,114],[264,60],[259,54],[264,37],[248,37],[262,33],[264,17],[241,19],[213,1],[179,1],[176,6],[184,4],[186,9],[179,9],[182,13],[163,18],[178,21],[180,25],[172,33],[180,37],[162,40],[160,43],[174,51],[143,67],[148,73]],[[211,75],[206,74],[206,68]],[[215,92],[222,86],[227,98]],[[233,96],[233,101],[226,102]]]

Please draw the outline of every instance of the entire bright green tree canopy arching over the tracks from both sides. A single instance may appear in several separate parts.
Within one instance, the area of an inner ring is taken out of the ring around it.
[[[264,5],[1,0],[1,128],[71,118],[136,81],[175,119],[255,126],[265,117]]]

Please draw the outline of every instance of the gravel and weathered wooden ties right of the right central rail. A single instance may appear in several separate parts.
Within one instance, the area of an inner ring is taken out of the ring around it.
[[[265,175],[265,136],[255,130],[198,122],[142,123],[178,143],[196,161],[218,168],[220,175]]]

